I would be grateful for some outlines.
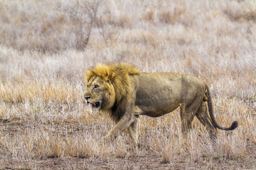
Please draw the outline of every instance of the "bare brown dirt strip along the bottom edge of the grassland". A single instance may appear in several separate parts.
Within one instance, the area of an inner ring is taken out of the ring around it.
[[[255,169],[255,160],[236,160],[220,162],[174,162],[163,164],[159,157],[129,157],[126,159],[112,158],[102,162],[80,158],[49,158],[15,162],[6,160],[1,169]]]

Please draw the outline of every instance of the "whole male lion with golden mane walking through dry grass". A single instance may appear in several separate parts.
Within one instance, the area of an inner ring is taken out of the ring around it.
[[[141,73],[129,64],[99,65],[86,71],[84,98],[93,109],[108,113],[116,122],[104,139],[115,139],[128,129],[134,146],[138,146],[138,117],[161,117],[180,107],[182,133],[191,128],[196,116],[216,138],[221,127],[212,110],[209,87],[200,78],[182,73]]]

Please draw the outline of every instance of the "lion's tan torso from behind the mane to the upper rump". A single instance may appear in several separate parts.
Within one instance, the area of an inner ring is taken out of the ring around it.
[[[189,74],[141,73],[138,81],[136,106],[156,115],[174,110],[205,90],[204,81]]]

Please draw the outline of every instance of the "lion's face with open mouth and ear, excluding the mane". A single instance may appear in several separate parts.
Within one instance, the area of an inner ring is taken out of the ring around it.
[[[93,109],[109,109],[115,103],[115,90],[110,81],[94,76],[86,82],[84,98]]]

